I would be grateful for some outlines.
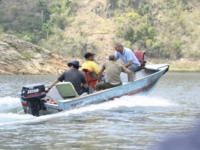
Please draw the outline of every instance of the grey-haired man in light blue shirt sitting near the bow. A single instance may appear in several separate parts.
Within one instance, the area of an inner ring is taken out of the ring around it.
[[[120,42],[115,43],[115,50],[115,58],[120,58],[124,62],[124,66],[134,75],[134,73],[140,69],[141,64],[135,57],[133,51],[124,47]],[[128,80],[130,81],[129,78]]]

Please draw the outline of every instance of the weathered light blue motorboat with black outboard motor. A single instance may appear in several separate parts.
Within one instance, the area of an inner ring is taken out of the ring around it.
[[[67,111],[91,104],[114,100],[125,95],[146,95],[168,71],[169,64],[145,65],[134,75],[134,82],[123,82],[121,86],[78,95],[70,82],[57,83],[48,93],[44,84],[23,86],[18,94],[25,113],[40,116]],[[122,81],[127,78],[121,75]],[[133,98],[134,101],[134,98]]]

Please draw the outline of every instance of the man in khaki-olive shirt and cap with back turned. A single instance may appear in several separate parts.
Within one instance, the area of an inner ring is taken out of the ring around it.
[[[103,71],[106,70],[106,81],[100,82]],[[123,65],[120,65],[116,62],[115,56],[110,55],[109,61],[104,63],[102,68],[99,71],[98,74],[98,84],[96,85],[95,89],[96,91],[105,90],[109,88],[113,88],[116,86],[122,85],[122,81],[120,78],[120,73],[125,72],[129,75],[130,81],[133,82],[133,74],[130,70],[128,70]]]

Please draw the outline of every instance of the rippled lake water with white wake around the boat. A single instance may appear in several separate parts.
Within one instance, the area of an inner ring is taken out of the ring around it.
[[[196,126],[200,73],[166,73],[147,96],[124,96],[53,115],[23,114],[23,85],[57,76],[0,76],[0,149],[152,149]]]

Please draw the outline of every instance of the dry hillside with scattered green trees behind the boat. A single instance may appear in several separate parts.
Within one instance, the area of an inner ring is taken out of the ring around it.
[[[63,57],[122,41],[149,58],[200,57],[199,0],[0,0],[1,32]]]

